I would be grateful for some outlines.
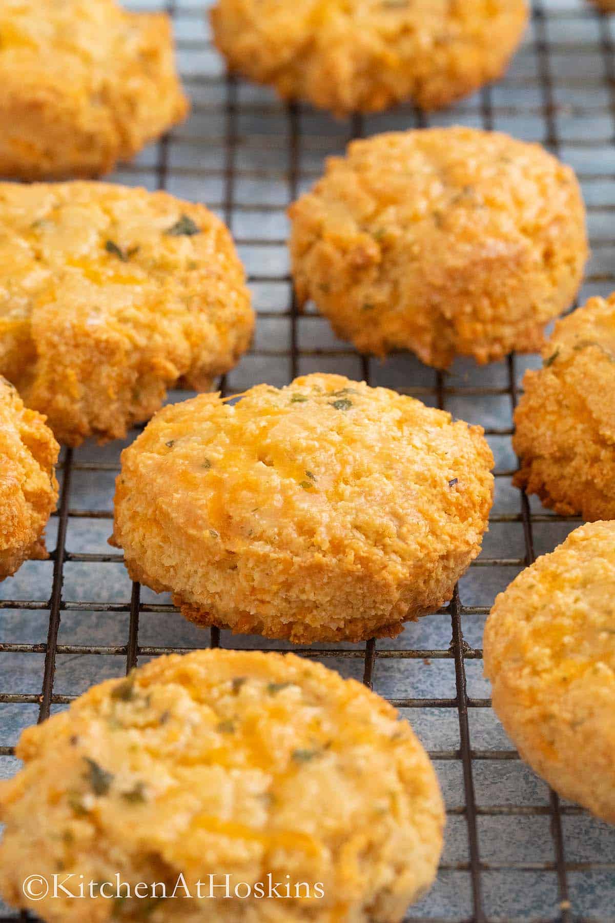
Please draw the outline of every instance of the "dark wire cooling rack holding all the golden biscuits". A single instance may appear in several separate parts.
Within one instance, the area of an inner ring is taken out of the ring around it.
[[[519,761],[482,677],[482,627],[494,595],[579,523],[551,515],[510,483],[512,411],[522,373],[537,357],[510,356],[483,368],[458,361],[448,374],[409,355],[385,363],[361,358],[314,311],[298,313],[285,209],[321,173],[325,156],[343,151],[351,137],[427,124],[503,129],[542,142],[576,169],[593,249],[582,297],[609,294],[615,288],[615,27],[583,0],[534,0],[526,42],[496,86],[429,119],[401,107],[340,123],[227,78],[208,38],[202,0],[163,8],[175,22],[193,114],[112,178],[204,201],[231,226],[258,324],[254,349],[221,388],[232,393],[316,370],[341,372],[482,424],[496,458],[491,531],[449,606],[409,624],[395,641],[301,651],[392,701],[435,763],[448,809],[446,847],[432,892],[407,919],[613,920],[615,828],[562,802]],[[170,399],[185,397],[177,392]],[[136,663],[208,643],[290,646],[197,629],[168,597],[131,585],[106,539],[119,453],[134,436],[64,452],[59,508],[48,530],[51,557],[27,563],[0,585],[0,776],[18,768],[13,747],[24,726]],[[0,906],[0,918],[29,917]]]

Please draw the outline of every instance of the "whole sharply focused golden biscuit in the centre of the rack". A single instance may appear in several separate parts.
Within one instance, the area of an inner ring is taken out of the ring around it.
[[[395,637],[479,554],[479,426],[336,375],[166,407],[122,455],[114,541],[202,625],[291,641]]]

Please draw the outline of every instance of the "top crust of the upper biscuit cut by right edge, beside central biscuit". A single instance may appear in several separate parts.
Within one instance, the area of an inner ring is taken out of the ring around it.
[[[590,298],[559,320],[542,351],[541,378],[555,376],[589,411],[599,437],[615,446],[615,294]],[[574,415],[574,408],[568,408]]]

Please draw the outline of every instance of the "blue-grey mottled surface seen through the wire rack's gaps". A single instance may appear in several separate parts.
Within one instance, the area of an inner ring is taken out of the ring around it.
[[[155,4],[146,0],[132,6],[146,8]],[[277,243],[288,232],[284,206],[290,196],[290,121],[271,92],[242,82],[238,84],[234,154],[237,174],[229,186],[224,173],[225,136],[229,128],[224,111],[227,90],[222,79],[223,66],[207,44],[202,6],[201,0],[180,0],[176,5],[180,63],[195,111],[189,122],[178,128],[171,138],[167,187],[176,195],[205,201],[220,214],[225,194],[231,193],[233,205],[240,206],[232,211],[231,226],[240,241],[242,258],[249,272],[257,277],[278,279],[273,282],[252,280],[255,306],[269,316],[260,319],[254,351],[231,373],[229,387],[243,390],[259,380],[281,385],[290,378],[289,358],[267,356],[261,351],[285,351],[290,346],[290,322],[288,317],[281,316],[290,304],[290,285],[284,278],[288,272],[288,255],[285,247]],[[538,8],[538,4],[536,6]],[[542,107],[551,98],[551,127],[560,139],[562,158],[580,173],[585,200],[590,206],[588,222],[593,256],[582,297],[606,294],[609,282],[598,277],[612,273],[615,260],[615,247],[609,244],[609,238],[615,236],[611,229],[615,207],[615,146],[612,144],[614,123],[610,108],[613,90],[609,90],[605,80],[608,70],[605,43],[611,40],[615,26],[601,21],[584,0],[545,0],[540,9],[544,12],[544,20],[539,16],[534,18],[508,77],[490,92],[434,115],[431,123],[480,126],[485,114],[491,114],[495,128],[519,138],[544,142],[548,140],[550,123],[545,120]],[[547,70],[541,72],[537,50],[543,38],[550,43],[550,54],[546,59]],[[550,77],[550,90],[545,90],[538,79],[545,72]],[[302,128],[299,185],[304,188],[310,185],[314,171],[321,168],[325,155],[343,150],[349,126],[324,114],[314,114],[307,107],[300,108],[299,119]],[[365,119],[363,130],[365,134],[373,134],[414,124],[413,111],[405,107]],[[136,164],[118,171],[113,179],[155,188],[159,184],[156,169],[159,162],[160,149],[151,148],[143,152]],[[244,210],[242,205],[250,208]],[[278,208],[271,209],[272,206]],[[257,238],[258,245],[242,243],[248,238]],[[276,313],[280,313],[279,318],[271,316]],[[297,334],[300,351],[310,352],[300,354],[301,373],[335,369],[355,378],[361,377],[361,360],[349,349],[335,358],[327,356],[327,350],[346,350],[346,346],[337,342],[324,319],[308,313],[299,319]],[[519,357],[515,364],[517,380],[526,367],[536,365],[536,356]],[[396,355],[382,364],[372,362],[371,378],[373,384],[394,388],[432,389],[424,400],[432,403],[436,400],[434,373],[411,356]],[[493,391],[506,389],[508,367],[502,363],[479,369],[460,361],[445,384],[479,386]],[[172,394],[171,400],[183,397],[185,394]],[[449,396],[446,407],[455,415],[486,427],[506,429],[511,426],[511,401],[506,394]],[[493,435],[490,442],[497,470],[505,472],[514,468],[509,436]],[[102,448],[86,445],[75,453],[75,462],[77,465],[85,462],[115,464],[123,445],[112,443]],[[111,510],[113,477],[112,471],[75,470],[70,508]],[[535,500],[531,502],[531,509],[541,517],[533,523],[538,554],[550,551],[578,524],[557,521],[548,513],[545,515],[546,511]],[[509,476],[498,477],[493,515],[516,516],[519,511],[520,497],[511,486]],[[53,520],[49,529],[50,548],[54,547],[56,526],[57,520]],[[77,554],[107,553],[110,527],[109,519],[71,516],[66,548]],[[503,590],[520,569],[518,563],[492,566],[490,558],[518,560],[524,556],[521,523],[494,522],[486,537],[479,566],[471,568],[460,583],[462,604],[466,607],[490,606],[494,595]],[[0,584],[0,598],[48,600],[52,578],[51,562],[30,562],[14,579]],[[61,652],[63,646],[113,648],[125,645],[128,613],[105,613],[97,611],[96,605],[107,602],[127,605],[130,593],[131,584],[120,561],[65,563],[64,602],[88,601],[92,605],[86,610],[77,605],[63,611],[58,635]],[[159,604],[168,599],[143,590],[142,601]],[[0,610],[0,643],[44,644],[48,618],[48,611],[24,610],[18,603],[14,608]],[[466,641],[472,648],[479,648],[484,616],[465,613],[462,621]],[[144,612],[140,617],[138,641],[143,647],[207,646],[208,632],[189,625],[175,613]],[[374,689],[392,698],[454,699],[455,663],[452,659],[403,657],[408,650],[446,652],[450,641],[451,621],[445,614],[425,617],[418,624],[408,625],[396,641],[379,641]],[[222,643],[260,647],[263,642],[258,638],[231,638],[223,632]],[[283,649],[288,645],[267,642],[266,647]],[[342,648],[346,655],[325,657],[325,663],[344,676],[361,678],[362,648],[350,644]],[[141,657],[140,662],[144,659]],[[39,695],[43,663],[43,651],[0,651],[0,690]],[[75,695],[101,679],[123,673],[124,668],[124,653],[57,653],[54,696]],[[481,661],[468,659],[466,673],[468,695],[476,699],[489,697]],[[61,703],[54,703],[52,711],[63,707]],[[462,761],[457,752],[460,746],[457,712],[453,707],[407,708],[403,712],[436,757],[435,765],[450,809],[444,867],[432,892],[412,908],[411,917],[464,920],[472,916],[473,895],[467,871],[467,820],[462,813],[466,797]],[[0,704],[0,744],[13,745],[21,728],[35,721],[37,714],[36,703]],[[477,828],[479,857],[484,863],[481,881],[485,916],[507,920],[556,919],[561,912],[562,894],[558,891],[554,866],[547,786],[523,763],[506,758],[512,746],[491,708],[470,708],[469,731],[476,757],[472,761],[472,776],[479,809]],[[13,757],[0,756],[0,777],[14,773],[17,765]],[[507,809],[512,806],[520,810],[508,813]],[[564,804],[562,832],[572,918],[615,920],[615,828]],[[595,863],[599,868],[588,868]],[[548,864],[546,868],[545,864]],[[518,869],[519,865],[525,868]],[[0,909],[8,913],[6,908]]]

